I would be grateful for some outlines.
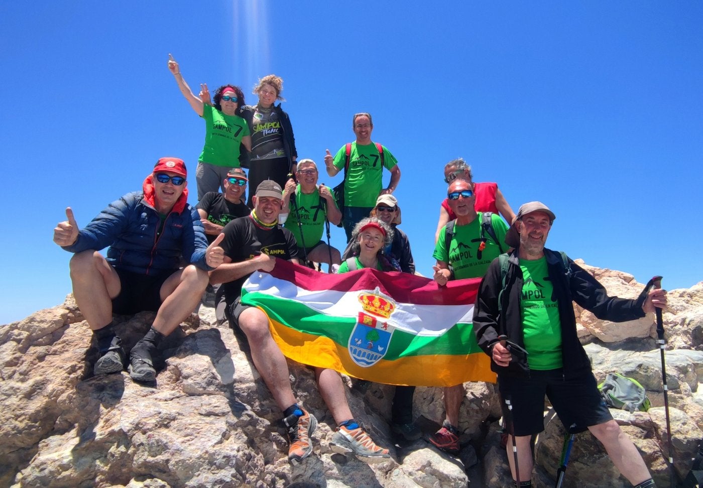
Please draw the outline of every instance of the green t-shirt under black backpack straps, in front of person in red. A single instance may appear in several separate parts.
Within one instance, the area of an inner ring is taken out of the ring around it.
[[[454,270],[454,279],[456,280],[481,278],[488,271],[491,261],[501,254],[501,248],[498,247],[498,243],[494,242],[489,233],[485,232],[486,247],[480,252],[481,257],[479,257],[479,247],[482,243],[481,219],[482,212],[477,212],[476,218],[470,224],[456,225],[455,223],[449,251],[445,243],[446,226],[439,231],[439,240],[437,240],[437,245],[434,246],[432,257],[437,259],[437,261],[448,263]],[[496,233],[498,242],[505,249],[505,233],[508,232],[508,226],[496,214],[491,215],[491,224],[493,224],[493,230]]]

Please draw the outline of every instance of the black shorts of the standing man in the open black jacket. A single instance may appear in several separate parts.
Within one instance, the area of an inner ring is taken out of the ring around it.
[[[545,394],[566,430],[581,432],[591,425],[612,420],[591,371],[568,380],[564,378],[562,368],[530,370],[529,378],[498,375],[498,390],[503,399],[503,416],[508,419],[508,428],[514,425],[518,437],[544,430]],[[512,403],[512,416],[505,399],[510,399]]]

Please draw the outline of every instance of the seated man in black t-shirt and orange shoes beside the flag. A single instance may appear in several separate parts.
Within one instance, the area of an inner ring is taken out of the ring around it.
[[[317,427],[317,420],[297,404],[290,387],[288,363],[271,336],[269,318],[262,310],[242,304],[240,295],[250,274],[259,269],[273,271],[276,257],[297,264],[298,248],[292,233],[278,226],[283,203],[283,190],[278,183],[262,181],[252,200],[254,210],[249,216],[234,219],[224,227],[224,263],[212,271],[210,281],[224,283],[216,297],[217,307],[224,307],[230,326],[246,335],[254,366],[283,411],[282,423],[290,442],[288,459],[296,464],[312,452],[310,435]],[[315,378],[337,423],[330,449],[340,454],[354,454],[368,463],[388,459],[388,449],[378,447],[352,417],[340,373],[315,368]]]

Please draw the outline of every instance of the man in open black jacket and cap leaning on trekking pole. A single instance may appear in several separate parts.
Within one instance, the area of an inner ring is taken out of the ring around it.
[[[633,486],[654,487],[635,444],[600,398],[576,335],[572,301],[599,319],[622,322],[666,307],[666,291],[654,289],[637,300],[609,297],[588,271],[544,247],[554,219],[543,203],[520,207],[505,236],[515,250],[491,262],[474,307],[478,344],[498,373],[501,397],[512,404],[512,411],[503,406],[515,436],[507,446],[512,479],[518,487],[532,486],[530,439],[544,430],[546,394],[567,430],[590,430]]]

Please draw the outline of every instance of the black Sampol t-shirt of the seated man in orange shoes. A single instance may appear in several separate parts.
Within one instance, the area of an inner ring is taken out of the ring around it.
[[[295,237],[288,229],[279,226],[273,229],[262,229],[254,224],[254,220],[247,217],[234,219],[224,226],[224,240],[220,244],[224,249],[224,254],[232,259],[232,262],[243,262],[252,259],[262,252],[269,256],[280,259],[295,259],[298,257],[298,248],[295,244]],[[242,285],[249,276],[223,283],[221,290],[228,303],[236,300],[242,293]]]

